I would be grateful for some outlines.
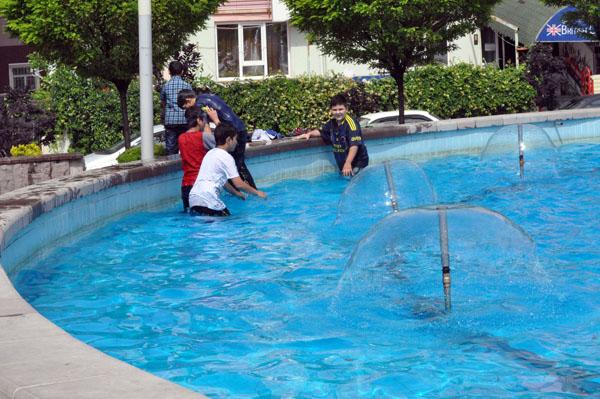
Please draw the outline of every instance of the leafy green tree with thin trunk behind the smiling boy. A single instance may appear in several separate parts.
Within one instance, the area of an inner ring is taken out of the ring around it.
[[[483,26],[500,0],[284,0],[291,21],[340,62],[387,70],[404,123],[404,74]]]

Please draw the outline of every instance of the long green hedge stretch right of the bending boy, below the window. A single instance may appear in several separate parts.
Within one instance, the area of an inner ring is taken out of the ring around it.
[[[392,78],[366,84],[338,75],[197,83],[208,84],[223,97],[249,130],[275,129],[287,134],[296,127],[319,127],[329,116],[329,99],[352,89],[352,93],[367,97],[351,101],[354,115],[398,106]],[[405,96],[407,109],[421,109],[448,119],[530,111],[535,91],[524,80],[523,69],[431,65],[406,74]]]

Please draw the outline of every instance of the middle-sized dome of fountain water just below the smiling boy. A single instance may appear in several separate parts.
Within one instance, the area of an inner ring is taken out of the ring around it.
[[[338,203],[335,220],[344,235],[362,236],[386,215],[405,208],[434,204],[429,178],[413,161],[371,165],[352,179]]]

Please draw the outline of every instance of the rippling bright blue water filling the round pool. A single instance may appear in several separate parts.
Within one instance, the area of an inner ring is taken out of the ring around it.
[[[401,237],[401,257],[371,245],[382,272],[356,277],[363,231],[336,221],[348,181],[333,174],[226,198],[224,220],[179,203],[130,215],[13,280],[82,341],[213,398],[600,396],[600,146],[564,146],[523,182],[498,165],[421,164],[439,203],[499,212],[534,243],[507,250],[509,224],[449,219],[449,314],[441,274],[421,281],[439,267],[421,239]],[[458,245],[483,236],[491,248]]]

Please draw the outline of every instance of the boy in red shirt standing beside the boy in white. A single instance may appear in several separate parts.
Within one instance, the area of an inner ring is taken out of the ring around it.
[[[212,110],[208,110],[210,111]],[[194,107],[188,109],[185,116],[188,120],[188,131],[181,134],[177,141],[183,169],[181,201],[183,201],[183,211],[187,212],[190,207],[190,191],[198,176],[204,155],[215,147],[215,136],[207,123],[206,112]]]

